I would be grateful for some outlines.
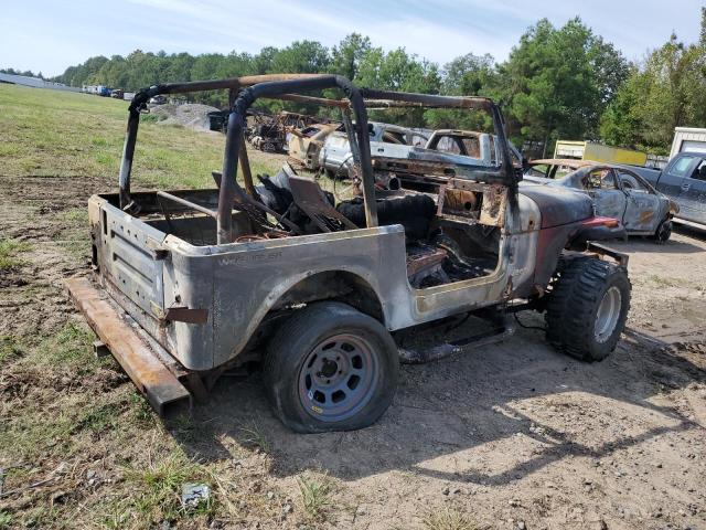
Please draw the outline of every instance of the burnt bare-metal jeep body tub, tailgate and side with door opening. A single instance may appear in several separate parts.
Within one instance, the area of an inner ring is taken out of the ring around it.
[[[163,221],[121,212],[116,201],[115,195],[90,200],[99,282],[189,370],[210,370],[235,359],[280,297],[319,273],[361,278],[374,290],[391,330],[498,304],[513,296],[511,286],[534,279],[541,220],[532,201],[518,229],[503,231],[493,273],[421,289],[407,279],[400,225],[195,246],[158,230]],[[511,218],[509,211],[506,225]],[[170,320],[174,308],[205,310],[207,318],[201,324]]]

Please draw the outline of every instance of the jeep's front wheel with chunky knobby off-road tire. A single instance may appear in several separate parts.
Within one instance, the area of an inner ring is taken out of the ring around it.
[[[547,340],[557,350],[592,362],[616,349],[630,309],[624,269],[595,257],[561,262],[546,308]]]

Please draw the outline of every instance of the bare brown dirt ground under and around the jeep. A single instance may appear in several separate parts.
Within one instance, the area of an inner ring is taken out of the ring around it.
[[[0,336],[41,339],[78,319],[62,279],[88,274],[88,233],[63,212],[114,187],[85,177],[81,186],[75,177],[0,177],[0,236],[31,245],[22,265],[0,273]],[[275,420],[257,374],[226,378],[189,425],[154,426],[160,421],[150,415],[149,435],[116,442],[114,431],[101,432],[68,464],[119,476],[108,453],[150,452],[167,437],[216,476],[239,477],[233,502],[265,499],[240,510],[236,523],[216,511],[178,528],[706,528],[706,234],[680,230],[665,245],[638,239],[614,246],[631,256],[632,310],[617,351],[601,363],[564,357],[542,331],[520,328],[503,343],[404,367],[394,404],[376,425],[306,436]],[[520,318],[541,324],[532,314]],[[111,383],[98,392],[130,388],[115,363],[101,370]],[[18,399],[21,372],[2,372],[8,404]],[[90,392],[94,382],[76,377],[47,392]],[[0,448],[0,467],[8,464]],[[299,480],[310,473],[331,485],[325,517],[299,517]],[[79,508],[115,486],[104,479],[88,488],[72,477],[58,487],[75,490],[66,513],[76,519],[62,526],[84,528]],[[14,517],[12,527],[25,521],[23,510],[54,502],[40,486],[0,497],[0,510]]]

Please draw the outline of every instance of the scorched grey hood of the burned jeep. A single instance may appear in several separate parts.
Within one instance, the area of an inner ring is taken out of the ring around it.
[[[520,184],[520,193],[537,204],[543,229],[575,223],[593,215],[593,201],[586,193],[523,183]]]

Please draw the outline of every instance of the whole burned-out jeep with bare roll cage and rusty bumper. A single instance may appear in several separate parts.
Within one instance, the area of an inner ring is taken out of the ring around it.
[[[213,189],[132,191],[149,98],[212,89],[231,99]],[[259,98],[339,109],[360,197],[332,197],[287,166],[256,184],[243,129]],[[498,156],[371,153],[368,110],[427,108],[483,113]],[[630,300],[627,257],[595,242],[623,229],[596,218],[586,195],[518,188],[521,178],[486,98],[357,88],[333,75],[158,85],[129,107],[119,192],[88,203],[94,278],[72,278],[68,290],[159,412],[206,399],[226,370],[256,364],[290,428],[361,428],[389,406],[400,359],[506,337],[518,310],[545,312],[548,341],[570,356],[597,361],[614,349]],[[489,330],[418,351],[396,342],[404,330],[469,314]]]

